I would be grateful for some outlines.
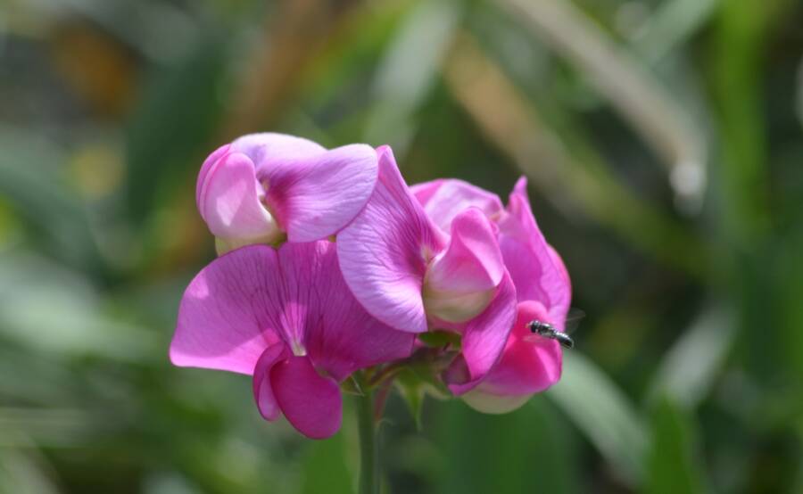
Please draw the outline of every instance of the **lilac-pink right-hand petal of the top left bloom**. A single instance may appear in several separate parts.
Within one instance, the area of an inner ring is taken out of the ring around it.
[[[368,202],[377,185],[377,152],[350,144],[259,169],[269,210],[290,242],[335,235]]]

